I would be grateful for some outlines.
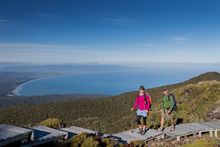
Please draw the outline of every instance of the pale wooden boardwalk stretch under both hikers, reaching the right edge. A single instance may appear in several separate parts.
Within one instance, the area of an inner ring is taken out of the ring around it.
[[[165,136],[180,141],[181,137],[188,135],[198,135],[198,137],[201,137],[202,133],[209,133],[210,137],[217,137],[218,131],[220,131],[220,121],[212,121],[204,123],[180,124],[176,126],[176,129],[173,132],[170,132],[170,127],[167,127],[163,132],[157,131],[155,129],[149,129],[145,135],[140,135],[137,133],[138,129],[134,129],[113,134],[112,136],[116,140],[125,143],[129,143],[135,140],[149,141],[153,139],[163,139]]]

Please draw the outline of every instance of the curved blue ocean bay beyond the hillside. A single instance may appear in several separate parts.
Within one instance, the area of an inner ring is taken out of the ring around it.
[[[113,72],[68,75],[32,80],[19,85],[13,92],[21,96],[49,94],[105,94],[136,91],[140,85],[146,88],[174,84],[200,74],[199,71],[123,70]]]

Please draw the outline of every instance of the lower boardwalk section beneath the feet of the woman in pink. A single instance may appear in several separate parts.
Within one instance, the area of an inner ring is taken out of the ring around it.
[[[129,143],[129,142],[135,141],[135,140],[148,141],[151,139],[156,139],[161,135],[163,135],[163,133],[160,131],[157,131],[155,129],[148,129],[146,131],[145,135],[141,135],[141,134],[138,134],[138,128],[130,130],[130,131],[112,134],[114,139],[118,140],[119,142],[126,142],[126,143]]]

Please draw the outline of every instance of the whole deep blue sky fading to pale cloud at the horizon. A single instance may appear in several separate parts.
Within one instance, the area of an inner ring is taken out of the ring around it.
[[[219,0],[1,0],[0,62],[220,63]]]

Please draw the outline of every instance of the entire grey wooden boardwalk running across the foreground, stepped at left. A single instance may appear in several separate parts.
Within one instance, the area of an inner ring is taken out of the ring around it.
[[[138,134],[138,129],[133,129],[112,135],[102,134],[102,137],[111,137],[122,143],[129,143],[137,140],[147,142],[155,139],[177,139],[177,141],[180,141],[182,137],[201,137],[204,133],[209,134],[210,137],[218,137],[218,131],[220,131],[220,120],[203,123],[179,124],[176,125],[176,129],[173,132],[170,132],[170,127],[167,127],[163,132],[155,129],[149,129],[145,135],[140,135]],[[97,131],[76,126],[70,126],[57,130],[45,126],[21,128],[13,125],[1,124],[0,146],[10,145],[13,143],[28,147],[43,145],[53,141],[70,139],[71,137],[83,132],[88,134],[98,133]]]

